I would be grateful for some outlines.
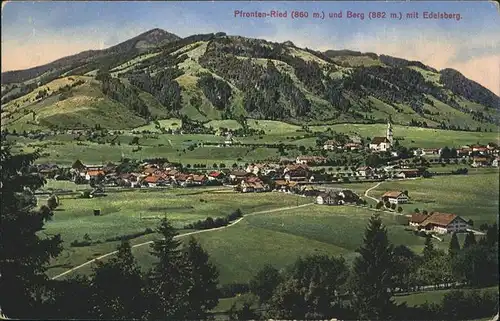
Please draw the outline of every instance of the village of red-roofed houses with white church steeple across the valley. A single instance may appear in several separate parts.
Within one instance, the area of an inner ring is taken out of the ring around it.
[[[233,144],[229,135],[225,145]],[[93,189],[82,193],[84,198],[105,195],[106,189],[161,189],[161,188],[196,188],[205,186],[225,186],[239,193],[281,192],[310,197],[319,205],[367,205],[359,195],[349,189],[336,188],[335,184],[356,182],[383,182],[385,180],[405,180],[428,178],[432,176],[429,166],[432,161],[443,158],[448,162],[455,159],[470,167],[498,167],[498,146],[470,145],[459,148],[441,149],[414,148],[411,152],[417,161],[408,162],[398,158],[394,148],[392,126],[387,124],[385,137],[374,137],[367,146],[360,141],[350,140],[340,144],[334,140],[324,143],[324,150],[357,150],[366,148],[370,154],[390,153],[391,161],[381,166],[344,167],[349,172],[332,174],[325,169],[327,158],[316,155],[303,155],[295,159],[282,158],[276,162],[260,162],[232,168],[191,168],[182,164],[170,163],[166,159],[149,159],[142,162],[124,160],[121,164],[105,165],[84,164],[76,160],[71,168],[59,168],[57,165],[40,164],[38,170],[47,178],[68,180],[76,184],[89,184]],[[424,166],[425,165],[425,166]],[[342,170],[342,168],[337,167]],[[441,173],[442,174],[442,173]],[[467,169],[452,171],[451,174],[467,174]],[[64,192],[64,191],[59,191]],[[56,192],[57,193],[57,192]],[[367,195],[365,195],[367,196]],[[403,215],[401,204],[410,201],[408,191],[387,191],[376,200],[376,210],[389,211]],[[370,205],[372,206],[372,205]],[[471,222],[466,222],[457,214],[450,213],[413,213],[404,215],[408,225],[415,230],[438,234],[466,232],[471,229]]]

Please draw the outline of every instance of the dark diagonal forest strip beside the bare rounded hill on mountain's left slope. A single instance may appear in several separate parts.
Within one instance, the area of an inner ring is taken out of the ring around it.
[[[151,112],[141,98],[136,88],[125,86],[117,78],[111,78],[107,73],[97,75],[96,79],[101,80],[101,90],[109,98],[116,100],[128,107],[137,115],[149,119]]]

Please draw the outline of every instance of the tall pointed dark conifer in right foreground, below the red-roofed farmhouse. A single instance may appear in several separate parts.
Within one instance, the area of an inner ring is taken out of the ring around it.
[[[363,245],[354,260],[352,290],[353,307],[362,320],[387,320],[394,303],[392,294],[393,246],[379,214],[370,218]]]

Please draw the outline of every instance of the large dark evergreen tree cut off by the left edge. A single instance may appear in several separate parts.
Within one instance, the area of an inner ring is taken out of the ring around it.
[[[2,141],[0,151],[0,307],[10,318],[38,318],[47,297],[46,265],[62,251],[60,235],[40,232],[47,213],[35,210],[32,191],[45,183],[30,167],[39,154],[12,155]]]

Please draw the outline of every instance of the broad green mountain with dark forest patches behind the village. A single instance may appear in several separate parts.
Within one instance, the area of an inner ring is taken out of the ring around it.
[[[292,41],[153,29],[105,50],[2,74],[2,124],[134,127],[185,117],[496,128],[500,98],[456,70]],[[120,120],[117,122],[117,120]]]

